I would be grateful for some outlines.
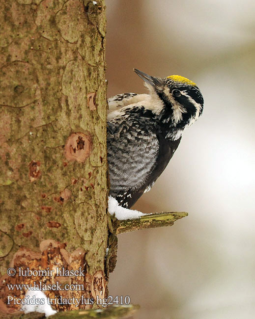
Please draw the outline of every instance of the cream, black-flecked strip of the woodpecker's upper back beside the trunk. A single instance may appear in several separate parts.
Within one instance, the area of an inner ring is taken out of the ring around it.
[[[115,111],[116,109],[119,109],[123,106],[128,106],[130,104],[140,102],[144,100],[146,96],[147,94],[136,93],[117,94],[107,100],[109,105],[108,113],[111,113],[112,111]]]

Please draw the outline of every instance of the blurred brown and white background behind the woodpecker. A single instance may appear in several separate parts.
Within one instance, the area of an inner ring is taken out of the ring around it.
[[[185,211],[118,236],[110,294],[135,319],[255,318],[255,1],[106,0],[108,96],[145,93],[138,68],[195,81],[204,112],[134,208]]]

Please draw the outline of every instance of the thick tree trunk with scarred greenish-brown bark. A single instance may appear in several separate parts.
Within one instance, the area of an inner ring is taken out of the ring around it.
[[[0,312],[25,295],[7,283],[78,283],[85,291],[46,295],[104,297],[104,0],[0,0],[0,24]],[[85,276],[7,276],[10,266]]]

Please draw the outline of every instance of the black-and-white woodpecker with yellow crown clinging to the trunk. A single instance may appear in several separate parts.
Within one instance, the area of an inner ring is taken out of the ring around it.
[[[124,93],[108,100],[110,195],[130,208],[154,185],[182,134],[203,110],[196,83],[178,75],[164,79],[134,69],[148,94]]]

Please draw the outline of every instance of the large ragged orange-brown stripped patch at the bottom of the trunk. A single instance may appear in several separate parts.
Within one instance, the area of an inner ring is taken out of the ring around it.
[[[56,273],[56,267],[59,267],[61,269],[62,267],[64,269],[73,269],[77,270],[80,267],[84,271],[86,275],[86,266],[85,266],[85,254],[86,251],[82,247],[78,247],[75,251],[72,253],[69,253],[66,250],[67,244],[65,242],[58,242],[54,239],[46,239],[40,242],[39,245],[39,251],[36,249],[36,251],[32,251],[25,247],[20,247],[18,251],[14,254],[12,261],[10,262],[10,267],[13,267],[16,269],[16,276],[8,276],[7,274],[3,274],[3,276],[0,277],[0,311],[2,316],[0,315],[0,318],[16,318],[14,315],[11,316],[5,316],[5,314],[14,314],[17,311],[20,311],[21,304],[20,303],[13,303],[7,304],[8,296],[12,296],[14,300],[18,298],[24,298],[25,295],[25,289],[18,290],[16,287],[13,290],[8,289],[8,284],[16,284],[18,282],[17,273],[18,269],[21,268],[22,270],[26,269],[49,269],[53,270],[54,273]],[[62,279],[62,281],[61,281]],[[54,276],[47,276],[45,274],[38,274],[36,276],[24,276],[23,277],[23,284],[33,284],[33,282],[42,282],[42,283],[54,283],[57,284],[59,281],[62,283],[68,283],[68,284],[85,284],[85,291],[74,291],[73,295],[76,298],[81,298],[83,294],[89,293],[89,289],[91,287],[91,280],[85,283],[84,277],[76,276],[73,278],[72,276],[65,276],[65,277],[57,277]],[[59,297],[60,295],[63,296],[63,298],[70,298],[72,297],[70,295],[71,291],[68,290],[62,290],[62,291],[51,291],[46,290],[44,293],[47,297],[52,298],[54,295],[55,297]],[[86,298],[90,298],[90,293],[86,296]],[[63,310],[72,310],[72,305],[62,305],[62,304],[55,304],[54,307],[58,311]],[[82,305],[81,309],[87,309],[92,308],[92,305]],[[75,309],[73,307],[73,309]],[[17,318],[23,318],[24,315],[17,316]],[[26,316],[25,316],[26,317]],[[24,317],[24,318],[25,318]],[[29,318],[37,318],[37,316],[31,316]]]

